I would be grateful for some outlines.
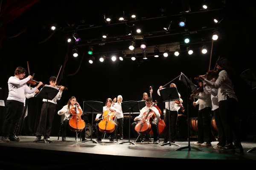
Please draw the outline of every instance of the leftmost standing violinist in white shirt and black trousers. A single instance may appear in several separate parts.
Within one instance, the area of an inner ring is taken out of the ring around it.
[[[3,142],[20,141],[20,139],[15,136],[14,132],[17,122],[22,116],[25,92],[32,94],[43,84],[39,82],[35,88],[30,89],[26,85],[26,82],[32,79],[32,76],[29,75],[24,79],[25,75],[25,68],[17,67],[14,72],[14,77],[10,77],[8,80],[9,94],[6,100],[6,119],[3,123]]]

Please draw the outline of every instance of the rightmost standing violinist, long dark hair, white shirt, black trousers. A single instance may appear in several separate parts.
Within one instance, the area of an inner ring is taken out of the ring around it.
[[[207,79],[204,79],[204,81],[208,86],[218,89],[220,118],[226,135],[226,144],[221,150],[229,151],[235,149],[236,151],[243,152],[238,128],[235,124],[238,99],[233,88],[236,85],[236,74],[227,58],[218,59],[217,69],[221,69],[221,71],[218,74],[216,82],[210,82]]]

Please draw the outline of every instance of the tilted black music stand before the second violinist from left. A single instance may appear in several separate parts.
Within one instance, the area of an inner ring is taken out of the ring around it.
[[[52,87],[50,85],[44,85],[44,87],[39,91],[39,93],[35,96],[40,99],[47,99],[46,103],[46,115],[45,115],[45,123],[44,123],[44,139],[35,140],[33,142],[44,141],[44,143],[52,142],[50,140],[45,139],[46,135],[46,122],[47,122],[47,111],[48,111],[48,99],[52,100],[58,94],[58,88]],[[44,114],[44,113],[43,113]]]

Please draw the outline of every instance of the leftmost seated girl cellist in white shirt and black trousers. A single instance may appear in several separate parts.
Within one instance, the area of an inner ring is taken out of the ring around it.
[[[67,125],[69,124],[69,120],[70,120],[70,113],[69,113],[70,109],[76,107],[76,105],[78,106],[79,109],[82,109],[79,103],[76,102],[76,97],[72,96],[68,100],[67,105],[63,106],[63,108],[60,111],[58,111],[58,115],[65,114],[65,118],[62,125],[62,141],[63,142],[66,141]],[[85,130],[81,131],[82,141],[87,140],[85,138],[85,134],[86,134]]]

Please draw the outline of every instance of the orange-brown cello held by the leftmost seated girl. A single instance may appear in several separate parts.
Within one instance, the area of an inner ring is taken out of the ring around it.
[[[70,111],[70,120],[68,128],[75,132],[81,132],[85,127],[85,122],[81,119],[82,110],[75,105]]]

